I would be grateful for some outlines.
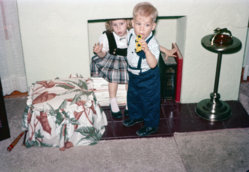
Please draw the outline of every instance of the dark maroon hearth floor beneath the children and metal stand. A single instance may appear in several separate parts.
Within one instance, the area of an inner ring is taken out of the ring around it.
[[[196,104],[178,104],[170,101],[162,101],[160,125],[157,133],[148,137],[169,137],[175,132],[207,131],[228,128],[249,127],[249,116],[239,101],[227,101],[231,107],[232,115],[228,120],[221,122],[210,122],[196,115]],[[109,107],[102,107],[108,119],[108,126],[102,139],[127,139],[137,138],[136,131],[142,127],[141,124],[132,127],[124,127],[122,121],[113,119]],[[122,112],[124,107],[122,107]]]

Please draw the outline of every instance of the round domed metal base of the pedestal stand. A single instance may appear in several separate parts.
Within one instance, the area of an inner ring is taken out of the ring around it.
[[[209,121],[228,119],[231,115],[230,106],[226,102],[219,100],[218,93],[211,93],[210,97],[211,99],[204,99],[197,103],[197,115]]]

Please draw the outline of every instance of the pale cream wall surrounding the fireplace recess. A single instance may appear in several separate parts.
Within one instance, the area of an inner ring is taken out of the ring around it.
[[[138,0],[17,0],[28,84],[71,73],[89,76],[91,46],[88,20],[132,17]],[[249,16],[248,0],[151,1],[160,16],[186,16],[185,33],[177,31],[184,56],[182,103],[198,102],[213,91],[217,54],[201,46],[201,38],[226,27],[243,44],[235,54],[223,55],[218,92],[223,100],[237,100]],[[180,24],[181,26],[181,24]],[[168,26],[170,27],[170,26]],[[169,32],[169,30],[165,30]],[[99,35],[99,33],[96,33]],[[162,33],[163,34],[163,33]],[[159,38],[160,39],[160,38]],[[164,44],[164,42],[162,42]],[[170,46],[171,47],[171,46]],[[169,48],[170,48],[169,47]]]

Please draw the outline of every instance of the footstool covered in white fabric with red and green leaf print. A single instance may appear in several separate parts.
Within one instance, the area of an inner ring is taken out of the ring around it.
[[[106,115],[91,79],[70,77],[38,81],[30,87],[23,115],[25,144],[59,147],[96,144],[105,132]]]

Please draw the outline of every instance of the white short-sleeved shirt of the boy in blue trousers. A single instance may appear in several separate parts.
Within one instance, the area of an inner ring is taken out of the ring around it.
[[[130,38],[131,34],[132,34],[132,36]],[[152,32],[146,38],[146,40],[148,38],[150,38],[151,36],[152,36]],[[134,29],[131,29],[129,31],[129,33],[127,34],[127,40],[129,42],[129,46],[128,46],[128,49],[127,49],[127,60],[128,60],[128,64],[131,67],[137,67],[138,60],[139,60],[139,56],[136,54],[136,51],[135,51],[135,48],[136,48],[135,39],[136,39],[136,34],[134,32]],[[160,49],[159,49],[159,44],[158,44],[157,40],[155,39],[155,37],[153,37],[150,40],[150,42],[148,44],[148,47],[149,47],[151,53],[155,56],[156,60],[158,61],[159,60],[159,55],[160,55]],[[147,70],[150,69],[150,66],[148,65],[146,59],[142,59],[141,69],[142,69],[142,72],[146,72]],[[130,71],[131,73],[133,73],[135,75],[138,75],[140,73],[140,71],[133,70],[133,69],[130,69],[130,68],[128,68],[128,71]]]

